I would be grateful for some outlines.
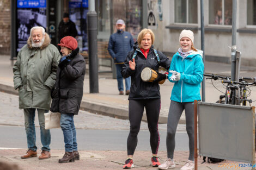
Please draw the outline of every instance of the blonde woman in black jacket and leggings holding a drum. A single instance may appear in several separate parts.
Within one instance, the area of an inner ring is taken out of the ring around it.
[[[129,121],[130,133],[127,138],[127,160],[123,168],[133,168],[133,154],[135,152],[143,116],[144,108],[147,114],[148,128],[150,132],[150,146],[152,151],[151,163],[154,167],[160,165],[157,160],[160,136],[158,121],[161,109],[161,97],[159,81],[165,80],[167,74],[159,73],[162,66],[169,70],[170,60],[160,51],[155,51],[153,43],[155,35],[151,29],[143,29],[138,34],[137,42],[133,51],[129,52],[123,66],[124,78],[131,76],[131,91],[129,95]],[[141,72],[145,67],[155,70],[158,77],[153,81],[143,81]]]

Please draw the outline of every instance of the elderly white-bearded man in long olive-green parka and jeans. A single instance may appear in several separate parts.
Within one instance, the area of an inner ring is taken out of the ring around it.
[[[51,104],[51,89],[56,81],[60,54],[43,27],[33,27],[27,45],[21,48],[14,64],[14,88],[19,89],[19,108],[23,109],[27,134],[27,153],[22,159],[37,156],[35,110],[38,112],[42,143],[39,159],[51,157],[50,130],[45,129],[44,113]]]

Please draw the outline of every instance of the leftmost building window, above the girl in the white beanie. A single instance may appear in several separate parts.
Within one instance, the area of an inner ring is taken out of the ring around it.
[[[197,23],[197,0],[175,0],[175,23]]]

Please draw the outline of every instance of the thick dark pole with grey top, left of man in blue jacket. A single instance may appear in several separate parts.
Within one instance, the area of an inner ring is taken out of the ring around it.
[[[88,54],[89,54],[89,84],[90,93],[99,93],[98,59],[97,59],[97,13],[95,0],[89,0],[87,13]]]

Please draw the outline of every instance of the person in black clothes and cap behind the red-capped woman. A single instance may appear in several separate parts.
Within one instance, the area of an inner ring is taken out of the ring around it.
[[[58,38],[59,41],[64,36],[77,36],[76,24],[69,19],[69,13],[63,14],[63,19],[60,21],[58,26]]]

